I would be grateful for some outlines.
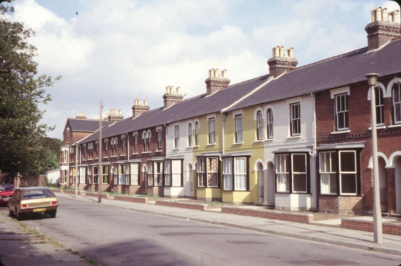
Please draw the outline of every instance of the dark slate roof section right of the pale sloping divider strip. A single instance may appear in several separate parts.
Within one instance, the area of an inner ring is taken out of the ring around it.
[[[401,39],[395,39],[377,51],[367,52],[365,47],[296,68],[225,111],[365,82],[368,73],[377,73],[381,77],[401,73]]]

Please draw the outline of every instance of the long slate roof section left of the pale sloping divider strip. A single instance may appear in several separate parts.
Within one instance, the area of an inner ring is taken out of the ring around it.
[[[144,128],[168,124],[192,117],[220,112],[236,100],[247,95],[256,87],[267,81],[269,75],[264,75],[252,80],[234,84],[216,93],[207,96],[202,94],[193,98],[183,100],[166,109],[157,108],[150,110],[136,118],[126,118],[116,122],[102,130],[102,137],[108,138],[127,132],[137,131]],[[206,88],[205,88],[206,89]],[[99,128],[99,124],[97,125]],[[86,143],[99,139],[98,132],[79,141]]]

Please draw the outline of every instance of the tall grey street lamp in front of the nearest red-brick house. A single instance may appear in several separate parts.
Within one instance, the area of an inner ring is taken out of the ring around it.
[[[375,243],[383,242],[380,191],[379,191],[379,169],[377,160],[377,131],[376,131],[376,94],[375,87],[379,74],[370,73],[366,75],[367,84],[370,87],[370,105],[372,121],[372,161],[373,161],[373,240]]]

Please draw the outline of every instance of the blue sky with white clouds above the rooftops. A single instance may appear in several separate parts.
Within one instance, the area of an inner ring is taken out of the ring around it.
[[[39,74],[63,76],[47,88],[43,123],[62,138],[68,117],[132,115],[134,99],[163,106],[166,86],[184,99],[206,93],[208,70],[227,69],[231,84],[268,73],[272,47],[294,48],[298,66],[367,46],[370,10],[393,1],[363,0],[15,0],[8,19],[36,35]]]

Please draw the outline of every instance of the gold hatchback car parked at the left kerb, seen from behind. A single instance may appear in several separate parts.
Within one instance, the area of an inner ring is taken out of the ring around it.
[[[21,219],[28,213],[47,213],[56,217],[58,200],[56,195],[47,187],[17,188],[9,199],[10,216]]]

